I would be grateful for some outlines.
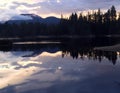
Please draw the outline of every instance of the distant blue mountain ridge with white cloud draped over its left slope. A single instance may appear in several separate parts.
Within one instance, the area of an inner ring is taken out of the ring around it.
[[[39,22],[39,23],[44,23],[44,24],[58,24],[60,22],[60,19],[53,17],[53,16],[47,17],[47,18],[42,18],[35,14],[21,14],[20,17],[14,16],[9,21],[7,21],[7,23],[9,23],[9,24],[13,24],[13,23],[20,24],[22,22],[26,22],[26,23]]]

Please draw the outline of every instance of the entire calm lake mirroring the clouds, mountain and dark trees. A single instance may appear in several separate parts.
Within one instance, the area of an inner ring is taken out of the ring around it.
[[[61,39],[1,46],[0,93],[120,93],[119,40]],[[117,51],[104,49],[116,44]]]

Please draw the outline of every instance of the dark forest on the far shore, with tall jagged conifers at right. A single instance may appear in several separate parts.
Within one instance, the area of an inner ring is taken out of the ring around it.
[[[112,6],[106,12],[101,9],[86,15],[72,13],[68,18],[61,16],[58,24],[22,22],[0,24],[0,37],[26,36],[106,36],[120,35],[120,13]]]

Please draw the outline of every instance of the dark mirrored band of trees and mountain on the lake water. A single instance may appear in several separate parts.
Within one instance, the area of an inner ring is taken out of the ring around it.
[[[42,40],[41,40],[42,41]],[[62,57],[70,55],[73,59],[77,58],[88,58],[89,60],[99,60],[101,62],[104,58],[107,58],[114,65],[116,64],[118,51],[102,51],[94,50],[95,47],[101,46],[110,46],[119,44],[120,38],[61,38],[56,40],[45,40],[45,42],[53,43],[44,43],[41,44],[41,41],[37,41],[38,44],[13,44],[12,46],[1,47],[1,51],[33,51],[30,55],[25,55],[24,57],[37,56],[44,51],[55,53],[57,51],[62,51]],[[55,42],[60,43],[55,43]],[[36,42],[36,41],[35,41]],[[43,41],[42,41],[43,42]]]

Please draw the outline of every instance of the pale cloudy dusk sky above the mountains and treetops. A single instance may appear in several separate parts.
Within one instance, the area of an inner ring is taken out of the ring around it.
[[[120,10],[120,0],[0,0],[0,21],[11,17],[30,19],[19,14],[32,13],[41,17],[69,15],[72,12],[109,9],[112,5]]]

